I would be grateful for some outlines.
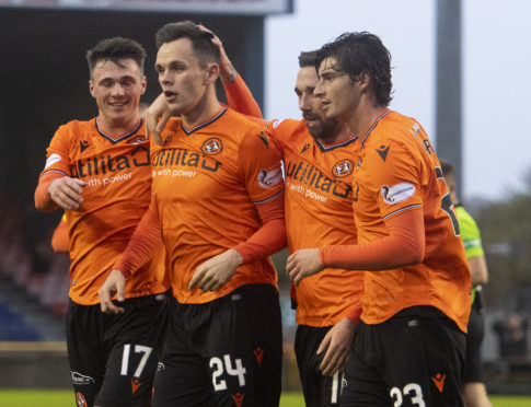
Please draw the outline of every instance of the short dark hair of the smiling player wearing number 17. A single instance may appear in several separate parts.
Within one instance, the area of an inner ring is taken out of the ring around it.
[[[103,39],[86,51],[86,61],[89,62],[91,78],[97,62],[109,60],[123,68],[124,66],[120,59],[132,59],[140,68],[140,72],[143,73],[146,49],[135,39],[114,37]]]

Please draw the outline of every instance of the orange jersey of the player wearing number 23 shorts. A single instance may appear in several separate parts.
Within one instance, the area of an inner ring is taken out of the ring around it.
[[[366,271],[361,319],[378,324],[403,309],[431,305],[466,332],[470,269],[439,160],[415,119],[385,111],[360,140],[354,171],[358,242],[388,235],[386,218],[418,207],[426,233],[423,263]]]

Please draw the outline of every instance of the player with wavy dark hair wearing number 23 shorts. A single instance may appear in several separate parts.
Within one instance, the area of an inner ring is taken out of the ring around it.
[[[314,94],[326,118],[360,137],[353,175],[358,243],[297,251],[287,270],[295,284],[325,267],[367,270],[342,405],[462,406],[470,270],[428,136],[386,107],[390,61],[380,38],[366,32],[320,51]]]

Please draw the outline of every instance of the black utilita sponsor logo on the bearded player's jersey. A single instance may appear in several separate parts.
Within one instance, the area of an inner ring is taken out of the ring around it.
[[[289,179],[298,181],[305,184],[305,186],[311,186],[323,193],[332,191],[333,195],[340,198],[349,198],[353,194],[353,186],[349,183],[334,182],[319,168],[304,161],[300,161],[299,163],[290,161],[288,163],[286,167],[286,181]]]

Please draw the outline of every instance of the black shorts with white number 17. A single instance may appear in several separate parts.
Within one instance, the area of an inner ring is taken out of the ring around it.
[[[124,314],[68,304],[67,349],[80,407],[151,404],[172,300],[168,293],[127,299]]]

